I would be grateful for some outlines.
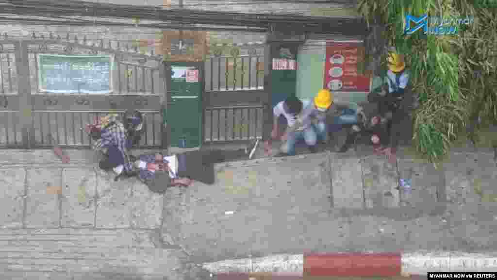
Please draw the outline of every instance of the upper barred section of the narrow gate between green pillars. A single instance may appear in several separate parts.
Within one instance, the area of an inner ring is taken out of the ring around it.
[[[205,91],[261,90],[263,55],[207,56]]]

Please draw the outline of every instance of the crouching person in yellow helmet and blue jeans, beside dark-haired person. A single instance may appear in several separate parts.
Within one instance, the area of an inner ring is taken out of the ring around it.
[[[302,139],[311,152],[316,152],[318,140],[328,143],[330,135],[326,119],[329,114],[336,113],[333,94],[329,90],[320,90],[314,97],[314,102],[309,102],[302,108],[295,124],[287,128],[287,139],[284,139],[286,143],[282,145],[281,154],[295,155],[295,144]]]

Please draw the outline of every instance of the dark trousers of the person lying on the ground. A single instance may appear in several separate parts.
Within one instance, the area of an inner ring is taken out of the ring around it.
[[[244,149],[234,151],[190,151],[177,154],[178,177],[190,178],[206,185],[213,185],[216,181],[214,174],[215,164],[240,160],[246,156]]]

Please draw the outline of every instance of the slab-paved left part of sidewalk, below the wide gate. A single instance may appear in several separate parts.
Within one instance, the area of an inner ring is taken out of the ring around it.
[[[164,241],[164,196],[114,182],[94,153],[0,151],[0,270],[4,279],[189,279],[189,256]],[[59,189],[58,189],[59,188]]]

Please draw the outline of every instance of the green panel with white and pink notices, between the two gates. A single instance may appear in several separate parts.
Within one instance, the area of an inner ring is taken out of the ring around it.
[[[202,145],[202,63],[170,63],[166,122],[171,147]]]

